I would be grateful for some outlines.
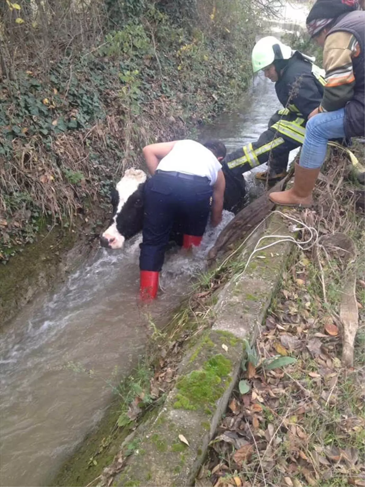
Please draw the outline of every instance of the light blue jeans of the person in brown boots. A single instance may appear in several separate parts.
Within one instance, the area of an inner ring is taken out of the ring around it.
[[[299,166],[307,169],[320,168],[326,157],[329,139],[344,138],[345,109],[314,115],[307,122]]]

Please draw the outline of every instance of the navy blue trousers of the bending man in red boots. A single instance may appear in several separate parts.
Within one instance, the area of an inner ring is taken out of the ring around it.
[[[183,179],[159,172],[145,185],[140,269],[160,272],[172,227],[201,237],[208,222],[213,188],[208,178]]]

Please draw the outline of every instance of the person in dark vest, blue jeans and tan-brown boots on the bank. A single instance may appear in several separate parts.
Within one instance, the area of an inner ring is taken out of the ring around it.
[[[270,194],[274,203],[285,206],[312,204],[329,139],[365,135],[365,12],[356,0],[317,0],[307,29],[323,47],[327,84],[309,116],[293,187]]]

